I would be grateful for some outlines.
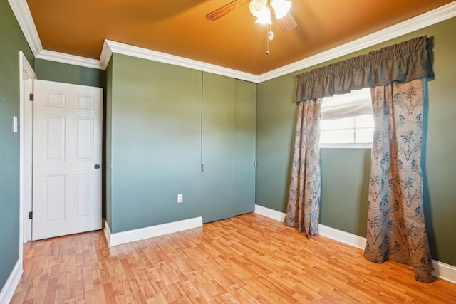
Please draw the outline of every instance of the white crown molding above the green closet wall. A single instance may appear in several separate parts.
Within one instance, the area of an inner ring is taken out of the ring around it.
[[[105,48],[110,48],[110,51],[105,50]],[[252,83],[258,83],[258,76],[254,74],[249,74],[242,72],[240,70],[233,70],[231,68],[224,68],[219,65],[213,65],[210,63],[204,63],[202,61],[195,61],[193,59],[188,59],[180,56],[170,55],[167,53],[161,53],[157,51],[152,51],[147,48],[140,48],[138,46],[131,46],[129,44],[120,43],[116,41],[105,40],[105,45],[103,46],[102,56],[100,62],[102,66],[108,65],[110,59],[109,53],[119,53],[123,55],[133,56],[137,58],[142,58],[150,61],[157,61],[161,63],[168,63],[172,65],[179,65],[184,68],[192,68],[195,70],[202,70],[203,72],[214,73],[217,75],[223,75],[227,77],[237,78],[240,80],[247,80]]]

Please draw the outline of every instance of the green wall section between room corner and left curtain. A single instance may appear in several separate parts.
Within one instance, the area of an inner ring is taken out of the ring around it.
[[[257,204],[284,211],[296,126],[294,75],[257,85]]]

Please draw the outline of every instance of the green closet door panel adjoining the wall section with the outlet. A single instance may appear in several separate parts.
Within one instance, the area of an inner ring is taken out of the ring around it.
[[[233,216],[234,78],[203,73],[202,219]]]

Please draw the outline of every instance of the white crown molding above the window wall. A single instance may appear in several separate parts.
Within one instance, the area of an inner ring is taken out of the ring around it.
[[[319,63],[324,63],[332,59],[360,51],[363,48],[368,48],[370,46],[375,46],[375,44],[382,43],[393,38],[398,38],[405,34],[411,33],[413,31],[418,31],[421,28],[427,26],[432,26],[432,24],[439,23],[450,19],[456,16],[456,1],[440,6],[437,9],[428,11],[425,14],[421,14],[412,19],[408,19],[401,23],[397,23],[394,26],[384,28],[383,30],[371,33],[368,36],[363,38],[356,39],[354,41],[345,43],[336,48],[331,48],[331,50],[318,53],[317,55],[304,58],[301,61],[296,61],[295,63],[290,63],[289,65],[284,65],[281,68],[271,70],[264,74],[258,75],[259,83],[262,83],[266,80],[271,80],[289,73],[294,73],[297,70],[302,70],[304,68],[309,68],[311,66],[317,65]]]

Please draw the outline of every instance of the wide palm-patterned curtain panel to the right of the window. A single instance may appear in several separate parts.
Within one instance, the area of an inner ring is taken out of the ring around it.
[[[364,256],[412,266],[433,281],[423,216],[421,135],[423,78],[372,89],[375,132]]]

